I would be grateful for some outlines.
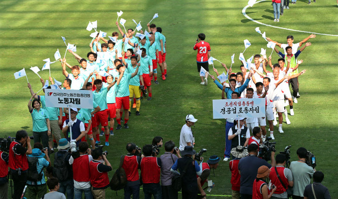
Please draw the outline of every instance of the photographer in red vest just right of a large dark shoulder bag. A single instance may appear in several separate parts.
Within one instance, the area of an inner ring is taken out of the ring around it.
[[[140,181],[138,176],[138,169],[140,168],[141,149],[136,147],[134,143],[127,143],[125,146],[128,153],[124,156],[122,168],[125,171],[127,177],[127,184],[124,187],[124,199],[130,199],[132,195],[133,199],[139,199],[140,195]],[[122,161],[122,159],[120,160]]]

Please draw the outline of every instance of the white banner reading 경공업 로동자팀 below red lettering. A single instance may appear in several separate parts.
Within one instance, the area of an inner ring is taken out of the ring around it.
[[[265,98],[213,100],[214,119],[265,117]]]

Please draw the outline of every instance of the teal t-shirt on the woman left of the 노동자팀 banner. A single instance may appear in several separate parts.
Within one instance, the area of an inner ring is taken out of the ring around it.
[[[33,132],[48,131],[46,119],[49,119],[49,115],[45,109],[40,108],[39,111],[33,109],[30,115],[33,120]]]

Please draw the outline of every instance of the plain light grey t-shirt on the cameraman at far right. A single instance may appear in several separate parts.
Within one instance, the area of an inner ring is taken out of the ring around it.
[[[304,189],[310,184],[310,179],[315,170],[305,162],[293,161],[290,164],[290,170],[293,176],[293,195],[304,197]]]

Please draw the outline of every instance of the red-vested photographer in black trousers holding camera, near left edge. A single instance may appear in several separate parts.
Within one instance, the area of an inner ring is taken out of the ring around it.
[[[27,148],[25,148],[27,146]],[[28,177],[27,156],[32,154],[32,146],[27,132],[16,132],[15,140],[9,146],[9,168],[14,183],[13,199],[20,199]]]

